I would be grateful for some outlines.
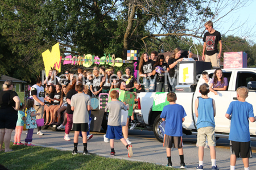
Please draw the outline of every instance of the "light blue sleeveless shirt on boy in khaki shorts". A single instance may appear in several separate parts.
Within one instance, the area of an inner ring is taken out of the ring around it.
[[[204,99],[199,97],[198,100],[196,128],[215,127],[212,98]]]

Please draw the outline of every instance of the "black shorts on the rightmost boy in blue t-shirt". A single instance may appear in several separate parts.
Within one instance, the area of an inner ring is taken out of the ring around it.
[[[236,155],[236,158],[252,158],[251,142],[230,141],[230,155]]]

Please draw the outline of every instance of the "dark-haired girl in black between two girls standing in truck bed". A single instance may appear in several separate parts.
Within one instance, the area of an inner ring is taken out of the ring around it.
[[[160,69],[162,70],[159,70],[160,72],[156,72],[156,67],[160,67]],[[167,79],[167,74],[170,69],[168,67],[168,64],[164,63],[163,54],[160,54],[158,56],[152,70],[152,75],[156,74],[156,92],[162,92],[162,89],[164,89],[164,92],[169,92],[169,81]]]

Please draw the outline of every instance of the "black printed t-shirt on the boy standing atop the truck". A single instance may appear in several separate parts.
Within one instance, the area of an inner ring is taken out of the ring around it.
[[[213,33],[205,32],[203,41],[206,42],[206,52],[208,56],[212,56],[215,53],[218,53],[218,41],[221,40],[221,34],[218,31]]]

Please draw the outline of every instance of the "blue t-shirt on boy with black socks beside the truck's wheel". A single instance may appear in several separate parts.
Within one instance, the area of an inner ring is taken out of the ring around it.
[[[165,134],[172,137],[182,137],[182,118],[185,116],[187,114],[182,105],[166,105],[160,115],[160,118],[166,119]]]

